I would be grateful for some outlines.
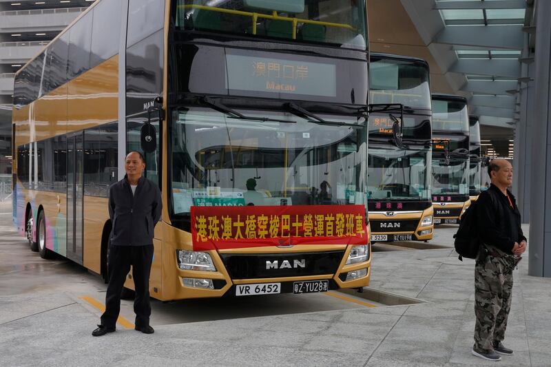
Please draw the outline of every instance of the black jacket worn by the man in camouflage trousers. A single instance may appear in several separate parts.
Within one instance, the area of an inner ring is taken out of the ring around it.
[[[491,192],[490,192],[491,191]],[[512,254],[514,242],[526,240],[521,229],[521,213],[517,201],[509,190],[509,199],[495,185],[490,185],[477,200],[477,224],[479,235],[485,244]]]

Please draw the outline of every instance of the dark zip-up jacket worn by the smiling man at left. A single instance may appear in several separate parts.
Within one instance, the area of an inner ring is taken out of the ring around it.
[[[145,246],[153,244],[155,224],[160,219],[163,202],[158,185],[141,177],[136,192],[126,175],[109,188],[109,216],[113,223],[111,244],[114,246]]]

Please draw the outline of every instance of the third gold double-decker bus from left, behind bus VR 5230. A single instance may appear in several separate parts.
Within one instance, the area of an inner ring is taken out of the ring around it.
[[[470,205],[469,118],[461,96],[433,94],[435,224],[457,224]]]

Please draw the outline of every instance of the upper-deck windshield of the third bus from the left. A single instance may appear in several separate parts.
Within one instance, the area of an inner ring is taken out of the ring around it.
[[[468,133],[469,117],[466,103],[433,99],[433,130]]]

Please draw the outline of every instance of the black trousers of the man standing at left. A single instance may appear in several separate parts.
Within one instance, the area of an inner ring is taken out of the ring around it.
[[[107,269],[109,284],[105,295],[105,312],[101,315],[101,324],[114,328],[118,313],[121,312],[121,292],[126,275],[132,265],[132,278],[136,288],[134,313],[136,326],[149,325],[151,304],[149,303],[149,273],[153,260],[153,244],[146,246],[111,246],[109,249]]]

